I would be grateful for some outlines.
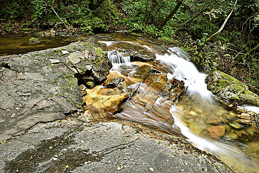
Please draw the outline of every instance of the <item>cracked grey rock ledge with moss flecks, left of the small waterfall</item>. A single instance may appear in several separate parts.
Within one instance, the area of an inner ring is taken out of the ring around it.
[[[0,57],[0,141],[39,122],[65,118],[83,106],[78,81],[106,80],[112,65],[91,39],[86,43]],[[87,82],[87,81],[86,81]]]

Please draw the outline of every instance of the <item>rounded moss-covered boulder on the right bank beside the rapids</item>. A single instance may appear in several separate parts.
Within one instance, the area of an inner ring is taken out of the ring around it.
[[[239,105],[259,106],[259,96],[236,78],[220,71],[212,72],[205,80],[207,88],[223,101],[235,101]]]

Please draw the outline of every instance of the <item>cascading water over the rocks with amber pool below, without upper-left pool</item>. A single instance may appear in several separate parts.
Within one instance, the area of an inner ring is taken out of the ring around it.
[[[116,41],[128,43],[129,39]],[[152,46],[150,43],[144,45],[143,41],[139,40],[132,42],[131,44],[145,47],[154,53],[159,52],[154,49],[154,47],[158,48],[158,45]],[[110,45],[110,43],[106,44]],[[161,49],[165,50],[166,48],[161,47]],[[216,155],[231,166],[234,171],[246,172],[245,170],[247,170],[249,173],[257,173],[259,170],[259,139],[258,137],[247,137],[249,134],[258,133],[257,129],[251,127],[248,130],[240,130],[229,126],[233,117],[237,117],[237,115],[227,109],[227,106],[221,103],[211,91],[207,90],[207,85],[204,82],[206,75],[200,73],[195,65],[188,61],[189,55],[182,49],[173,47],[167,50],[167,53],[163,51],[163,55],[156,54],[156,60],[165,67],[167,80],[172,78],[182,80],[187,87],[187,91],[173,105],[159,96],[155,98],[153,103],[145,102],[154,93],[150,92],[152,88],[149,88],[145,83],[133,79],[137,76],[136,64],[138,63],[130,62],[129,57],[123,57],[118,51],[108,52],[108,57],[113,63],[111,73],[126,75],[125,81],[132,83],[128,89],[137,90],[139,93],[138,100],[131,99],[126,102],[124,110],[117,116],[169,133],[172,130],[179,130],[194,146]],[[118,87],[120,88],[120,85]],[[258,107],[249,105],[243,107],[253,109],[258,113]],[[228,117],[223,115],[228,115]],[[165,122],[170,122],[170,117],[173,117],[174,120],[173,127],[168,127],[168,123],[156,121],[157,118],[164,118]],[[212,138],[208,132],[208,129],[215,127],[216,124],[226,130],[220,138]]]

